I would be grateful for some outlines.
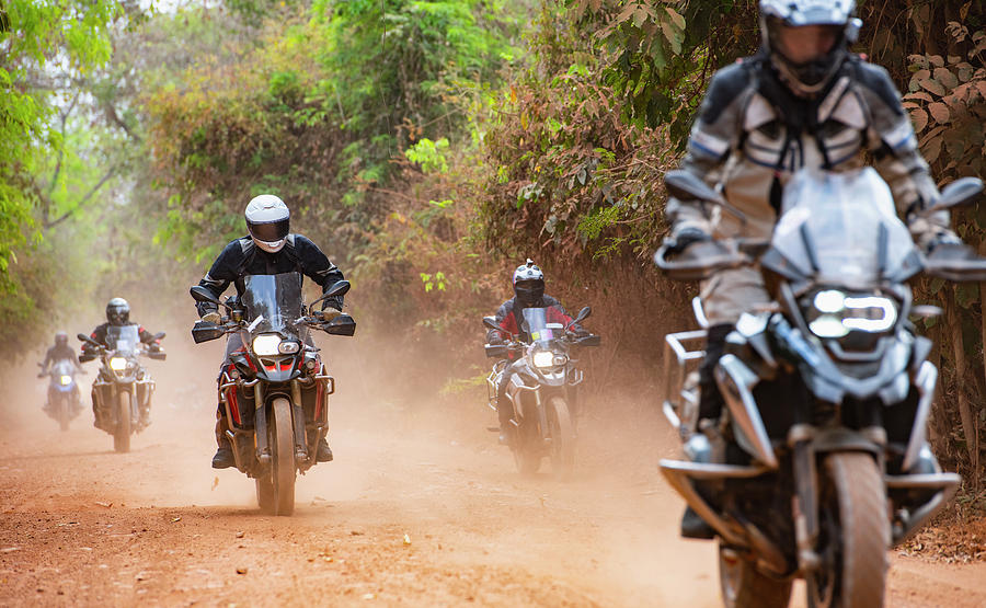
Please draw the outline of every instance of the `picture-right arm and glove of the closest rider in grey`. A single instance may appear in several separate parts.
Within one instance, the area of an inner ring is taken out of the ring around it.
[[[901,94],[890,74],[880,66],[857,64],[859,91],[869,110],[867,142],[875,159],[875,169],[890,185],[897,213],[908,221],[910,231],[921,245],[927,245],[949,230],[948,211],[930,219],[913,220],[910,214],[938,200],[939,192],[928,163],[918,150],[910,116],[901,103]]]

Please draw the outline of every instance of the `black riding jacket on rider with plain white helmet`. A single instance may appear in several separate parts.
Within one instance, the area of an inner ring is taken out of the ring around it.
[[[345,278],[335,264],[322,253],[317,244],[301,234],[288,234],[284,248],[277,253],[268,253],[253,242],[249,236],[237,239],[226,245],[213,267],[198,284],[213,292],[217,298],[232,283],[237,295],[244,290],[243,278],[249,275],[276,275],[282,273],[301,273],[322,287],[324,292],[336,282]],[[211,302],[196,302],[199,317],[207,312],[218,312]],[[322,307],[331,306],[342,310],[343,298],[329,298]]]

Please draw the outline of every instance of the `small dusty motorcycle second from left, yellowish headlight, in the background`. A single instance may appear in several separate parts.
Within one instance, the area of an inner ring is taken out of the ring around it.
[[[80,341],[89,344],[101,366],[92,383],[93,414],[95,427],[113,435],[113,449],[130,451],[130,435],[140,433],[149,424],[151,395],[154,380],[147,368],[140,365],[140,357],[164,360],[167,354],[148,349],[140,342],[137,325],[110,325],[106,344],[100,344],[80,333]],[[154,335],[161,340],[164,333]],[[90,360],[84,355],[80,360]]]

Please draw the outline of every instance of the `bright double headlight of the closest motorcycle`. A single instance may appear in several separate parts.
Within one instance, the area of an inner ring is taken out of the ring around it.
[[[818,337],[842,337],[851,331],[882,333],[897,322],[897,305],[882,296],[847,296],[836,289],[815,294],[809,329]]]

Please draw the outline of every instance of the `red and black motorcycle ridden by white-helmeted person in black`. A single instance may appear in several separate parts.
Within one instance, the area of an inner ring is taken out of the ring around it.
[[[195,286],[192,297],[222,306],[220,323],[197,321],[196,344],[233,334],[242,348],[231,354],[219,378],[219,402],[230,428],[226,436],[237,469],[255,480],[261,511],[290,515],[295,509],[295,475],[316,464],[318,444],[329,433],[329,395],[335,379],[311,343],[310,329],[352,336],[356,321],[348,314],[324,319],[314,305],[342,296],[349,283],[340,280],[306,306],[301,275],[250,275],[241,299],[220,302]]]

